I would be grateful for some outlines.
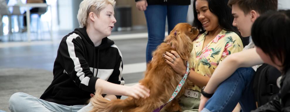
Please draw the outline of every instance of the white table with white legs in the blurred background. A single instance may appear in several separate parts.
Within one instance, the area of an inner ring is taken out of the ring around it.
[[[46,3],[26,3],[26,4],[15,4],[14,6],[26,7],[26,23],[27,23],[27,38],[28,42],[31,41],[30,38],[30,8],[40,8],[40,7],[48,7]],[[50,12],[52,12],[50,7]],[[51,17],[51,24],[50,24],[50,39],[52,40],[52,17]]]

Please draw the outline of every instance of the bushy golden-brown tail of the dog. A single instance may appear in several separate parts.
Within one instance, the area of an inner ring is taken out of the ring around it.
[[[91,98],[93,109],[90,112],[120,112],[125,108],[134,108],[135,103],[131,99],[116,99],[109,101],[101,95],[101,91],[96,91],[95,96]]]

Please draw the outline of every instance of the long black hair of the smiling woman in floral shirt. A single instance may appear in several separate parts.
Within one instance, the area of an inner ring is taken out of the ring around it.
[[[197,19],[197,12],[196,12],[196,3],[197,0],[193,1],[193,15],[194,20],[192,26],[197,27],[199,29],[200,33],[204,33],[205,30],[203,29],[202,23]],[[209,10],[211,13],[216,15],[218,17],[219,26],[221,29],[224,29],[226,31],[233,31],[236,34],[242,37],[240,35],[240,32],[236,27],[234,27],[233,24],[233,16],[232,16],[232,10],[230,7],[228,7],[228,0],[206,0],[209,3]],[[242,38],[241,38],[242,39]]]

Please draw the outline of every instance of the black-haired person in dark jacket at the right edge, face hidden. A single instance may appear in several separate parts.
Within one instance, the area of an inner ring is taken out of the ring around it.
[[[280,88],[272,101],[260,106],[253,112],[290,111],[290,10],[268,12],[261,15],[253,24],[252,38],[256,52],[264,63],[282,72],[277,79]]]

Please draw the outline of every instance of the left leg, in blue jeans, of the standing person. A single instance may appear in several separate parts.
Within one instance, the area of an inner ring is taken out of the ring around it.
[[[146,48],[147,63],[151,61],[152,51],[164,40],[166,7],[166,5],[148,5],[144,11],[148,29],[148,43]]]

